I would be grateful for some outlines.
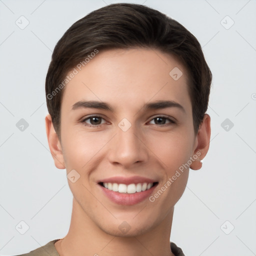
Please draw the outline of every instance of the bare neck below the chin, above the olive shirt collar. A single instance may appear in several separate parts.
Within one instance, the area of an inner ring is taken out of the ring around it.
[[[114,236],[96,225],[73,198],[69,230],[63,239],[55,242],[55,248],[60,256],[174,256],[169,241],[173,209],[163,221],[146,231],[140,230],[134,236]]]

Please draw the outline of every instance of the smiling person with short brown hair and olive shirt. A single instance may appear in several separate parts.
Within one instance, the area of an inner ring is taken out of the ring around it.
[[[211,78],[198,40],[153,8],[114,3],[72,24],[45,80],[70,227],[22,255],[184,255],[173,211],[209,148]]]

